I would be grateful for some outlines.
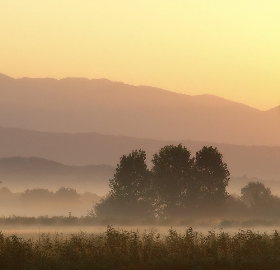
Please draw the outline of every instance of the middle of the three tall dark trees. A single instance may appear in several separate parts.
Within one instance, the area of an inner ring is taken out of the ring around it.
[[[194,193],[194,158],[182,144],[162,147],[152,159],[153,185],[158,210],[174,216],[190,202]]]

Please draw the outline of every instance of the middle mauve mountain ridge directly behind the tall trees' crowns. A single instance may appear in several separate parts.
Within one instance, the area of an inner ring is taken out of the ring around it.
[[[191,151],[192,156],[195,156],[195,152],[202,149],[204,145],[217,147],[224,156],[223,160],[226,162],[232,177],[247,175],[248,177],[258,177],[264,180],[280,180],[280,147],[238,146],[215,142],[194,142],[191,140],[160,141],[102,135],[99,133],[50,133],[0,127],[0,158],[37,156],[67,165],[107,164],[113,167],[109,167],[108,175],[102,179],[108,180],[114,175],[114,168],[124,154],[128,155],[132,150],[142,148],[147,153],[147,163],[151,168],[151,160],[155,152],[158,152],[165,145],[178,145],[179,143],[186,146]],[[50,163],[49,174],[57,174],[54,171],[55,166],[58,165],[51,165]],[[73,171],[81,172],[81,169],[76,167],[71,169],[62,164],[59,165],[59,168],[59,170],[67,169],[69,174],[72,174]],[[89,166],[84,167],[82,172],[84,173],[85,170],[90,170],[91,168],[94,171],[96,168],[107,167],[104,167],[104,165],[101,165],[101,167]],[[4,170],[4,167],[2,169],[0,167],[0,177],[1,170]],[[43,170],[38,165],[38,170],[44,171],[45,169]],[[91,173],[93,174],[92,171]],[[79,177],[77,176],[75,179]],[[93,179],[93,176],[90,175],[89,179]],[[2,177],[0,180],[4,182]],[[92,192],[99,194],[94,190]]]

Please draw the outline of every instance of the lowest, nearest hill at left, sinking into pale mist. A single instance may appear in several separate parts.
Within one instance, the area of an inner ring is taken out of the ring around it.
[[[65,186],[101,196],[110,190],[109,179],[115,171],[110,165],[67,166],[38,157],[0,159],[1,186],[13,192],[34,188],[56,191]]]

